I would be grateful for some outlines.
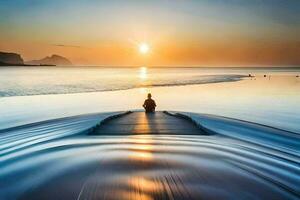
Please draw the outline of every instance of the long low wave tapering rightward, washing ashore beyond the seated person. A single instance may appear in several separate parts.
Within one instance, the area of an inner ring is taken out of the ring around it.
[[[30,96],[30,95],[47,95],[47,94],[71,94],[71,93],[86,93],[86,92],[104,92],[127,90],[143,87],[163,87],[163,86],[180,86],[180,85],[195,85],[209,84],[220,82],[240,81],[246,76],[244,75],[200,75],[200,76],[184,76],[184,77],[149,77],[147,80],[131,79],[128,77],[123,79],[101,80],[78,80],[68,81],[32,81],[30,83],[18,83],[15,80],[10,83],[3,83],[0,88],[0,97],[10,96]],[[30,77],[28,77],[30,79]],[[0,81],[1,82],[1,81]]]

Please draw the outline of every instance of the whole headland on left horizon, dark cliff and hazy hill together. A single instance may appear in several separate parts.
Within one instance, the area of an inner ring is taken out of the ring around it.
[[[72,62],[60,55],[52,55],[40,60],[24,61],[17,53],[0,52],[0,66],[70,66]]]

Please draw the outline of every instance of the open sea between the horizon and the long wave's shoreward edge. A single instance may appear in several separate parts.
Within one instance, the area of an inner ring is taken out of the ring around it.
[[[299,74],[300,68],[0,68],[0,97],[115,91],[229,82],[248,74]]]

